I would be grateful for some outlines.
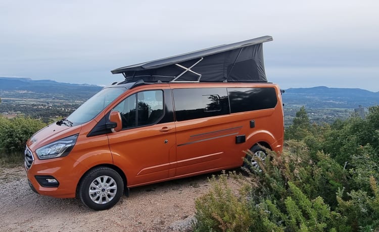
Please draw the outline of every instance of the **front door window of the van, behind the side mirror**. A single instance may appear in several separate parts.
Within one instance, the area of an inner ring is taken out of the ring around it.
[[[163,91],[138,92],[125,98],[113,110],[121,114],[122,129],[154,124],[163,116]]]

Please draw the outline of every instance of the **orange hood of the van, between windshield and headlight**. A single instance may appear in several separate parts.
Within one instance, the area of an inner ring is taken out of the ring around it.
[[[57,123],[53,123],[35,133],[30,139],[28,139],[26,145],[32,152],[34,152],[36,149],[46,144],[71,135],[79,134],[81,128],[81,125],[67,127],[64,125],[58,126]]]

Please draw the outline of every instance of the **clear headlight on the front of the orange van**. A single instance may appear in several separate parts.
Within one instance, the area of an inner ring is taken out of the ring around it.
[[[78,135],[49,143],[35,150],[39,159],[51,159],[68,155],[76,143]]]

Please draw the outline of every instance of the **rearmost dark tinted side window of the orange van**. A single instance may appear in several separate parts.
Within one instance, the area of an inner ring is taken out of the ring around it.
[[[245,112],[274,108],[275,88],[228,88],[230,112]]]

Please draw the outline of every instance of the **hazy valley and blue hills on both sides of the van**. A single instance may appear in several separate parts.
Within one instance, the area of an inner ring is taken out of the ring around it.
[[[52,80],[0,77],[0,113],[7,117],[24,114],[47,122],[66,117],[102,88]],[[282,94],[282,99],[286,125],[292,123],[296,111],[303,105],[311,122],[331,123],[337,118],[348,118],[359,105],[367,109],[379,104],[379,92],[324,86],[290,88]]]

